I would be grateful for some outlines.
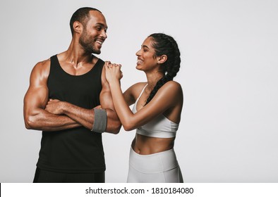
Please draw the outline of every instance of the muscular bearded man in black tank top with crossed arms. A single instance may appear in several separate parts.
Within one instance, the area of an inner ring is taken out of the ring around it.
[[[104,61],[104,15],[79,8],[70,21],[68,50],[39,62],[24,98],[27,129],[42,130],[34,182],[104,182],[102,132],[119,133]]]

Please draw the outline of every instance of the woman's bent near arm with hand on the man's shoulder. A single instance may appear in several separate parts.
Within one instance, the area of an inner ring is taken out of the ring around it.
[[[114,102],[116,113],[127,131],[141,127],[150,120],[164,113],[167,109],[180,103],[182,98],[181,86],[177,82],[167,82],[157,91],[152,101],[145,107],[133,114],[125,101],[119,82],[119,70],[121,66],[106,67],[107,81],[111,89],[111,96]]]

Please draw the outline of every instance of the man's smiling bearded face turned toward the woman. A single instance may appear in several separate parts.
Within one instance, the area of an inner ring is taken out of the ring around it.
[[[99,11],[90,11],[90,19],[83,25],[79,43],[85,52],[99,54],[104,40],[107,39],[106,32],[107,23],[104,15]]]

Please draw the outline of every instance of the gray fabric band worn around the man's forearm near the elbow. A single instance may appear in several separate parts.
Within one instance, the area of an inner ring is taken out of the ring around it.
[[[95,121],[92,126],[92,132],[103,133],[107,127],[107,113],[106,110],[94,109]]]

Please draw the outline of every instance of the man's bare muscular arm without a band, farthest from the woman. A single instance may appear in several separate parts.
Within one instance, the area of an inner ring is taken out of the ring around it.
[[[47,105],[50,60],[37,63],[30,75],[30,87],[24,97],[24,121],[27,129],[58,131],[81,125],[66,115],[54,115],[44,110]]]

